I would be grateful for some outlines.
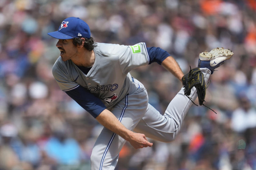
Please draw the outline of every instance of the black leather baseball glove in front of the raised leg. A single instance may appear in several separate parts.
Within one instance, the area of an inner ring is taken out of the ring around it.
[[[191,92],[191,88],[195,87],[197,89],[197,96],[199,105],[203,105],[206,95],[205,79],[203,78],[203,73],[198,67],[191,69],[189,73],[182,77],[182,84],[184,87],[184,94],[188,97]],[[190,97],[189,97],[190,98]]]

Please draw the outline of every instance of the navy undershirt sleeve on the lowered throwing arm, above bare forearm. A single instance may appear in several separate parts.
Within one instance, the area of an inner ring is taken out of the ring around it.
[[[95,97],[82,86],[78,86],[73,90],[65,92],[94,118],[96,118],[103,110],[106,109],[106,106],[99,98]]]

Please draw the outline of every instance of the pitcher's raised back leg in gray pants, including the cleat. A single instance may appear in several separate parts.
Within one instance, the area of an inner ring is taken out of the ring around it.
[[[198,67],[204,75],[205,82],[208,81],[213,70],[232,57],[232,55],[233,53],[230,50],[223,48],[213,49],[209,53],[201,53],[199,55]],[[189,97],[193,101],[197,98],[195,87],[191,89]],[[168,105],[164,115],[160,114],[149,104],[145,116],[140,120],[134,131],[143,133],[151,139],[171,142],[177,136],[183,119],[192,104],[192,101],[184,95],[184,88],[181,88]]]

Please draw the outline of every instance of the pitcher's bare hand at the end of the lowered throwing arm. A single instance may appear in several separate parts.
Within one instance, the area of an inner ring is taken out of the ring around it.
[[[141,133],[133,133],[130,135],[130,140],[128,140],[128,142],[130,142],[131,146],[135,149],[153,146],[153,143],[147,141],[146,136]]]

